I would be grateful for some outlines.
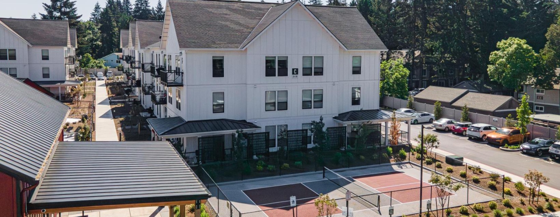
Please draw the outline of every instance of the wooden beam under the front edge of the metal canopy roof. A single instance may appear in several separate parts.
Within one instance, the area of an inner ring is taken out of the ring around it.
[[[206,202],[206,200],[202,200]],[[171,202],[148,202],[143,204],[119,204],[119,205],[104,205],[104,206],[80,206],[80,207],[70,207],[70,208],[55,208],[55,209],[45,209],[45,213],[41,213],[41,210],[28,210],[28,214],[53,214],[53,213],[66,213],[73,211],[83,211],[83,210],[104,210],[104,209],[124,209],[124,208],[141,208],[150,206],[175,206],[178,204],[194,204],[194,200],[186,201],[171,201]],[[170,213],[173,210],[169,210]]]

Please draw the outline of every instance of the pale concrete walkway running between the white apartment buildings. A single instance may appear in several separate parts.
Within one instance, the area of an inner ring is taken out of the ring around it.
[[[95,141],[119,141],[105,81],[96,81],[95,85]]]

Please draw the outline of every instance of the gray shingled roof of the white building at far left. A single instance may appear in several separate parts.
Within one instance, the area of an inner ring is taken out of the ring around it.
[[[68,21],[0,18],[29,44],[34,46],[68,46]]]

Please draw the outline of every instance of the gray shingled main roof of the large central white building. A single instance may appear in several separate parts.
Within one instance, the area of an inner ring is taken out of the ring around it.
[[[179,47],[239,49],[294,2],[169,0]],[[351,50],[386,50],[356,7],[305,6]]]

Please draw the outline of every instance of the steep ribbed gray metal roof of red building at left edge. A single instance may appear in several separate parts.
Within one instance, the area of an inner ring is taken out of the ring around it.
[[[0,171],[32,183],[70,108],[10,75],[0,84]]]

